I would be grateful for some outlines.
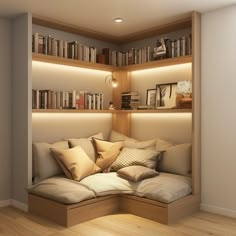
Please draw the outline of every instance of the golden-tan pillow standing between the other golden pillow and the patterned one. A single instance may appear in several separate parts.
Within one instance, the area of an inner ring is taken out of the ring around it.
[[[97,151],[96,165],[105,171],[116,160],[123,147],[123,142],[108,142],[93,138],[93,142]]]

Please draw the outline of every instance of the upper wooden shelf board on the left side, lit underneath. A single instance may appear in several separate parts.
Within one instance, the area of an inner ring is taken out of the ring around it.
[[[117,68],[115,66],[104,65],[99,63],[92,63],[92,62],[85,62],[75,59],[63,58],[63,57],[56,57],[51,55],[45,55],[40,53],[32,53],[33,61],[41,61],[59,65],[66,65],[66,66],[75,66],[80,68],[86,69],[93,69],[93,70],[103,70],[103,71],[115,71]]]

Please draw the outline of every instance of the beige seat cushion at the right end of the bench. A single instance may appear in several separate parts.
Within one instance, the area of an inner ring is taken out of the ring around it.
[[[192,192],[191,178],[187,176],[159,173],[159,176],[145,179],[136,186],[134,195],[170,203]]]

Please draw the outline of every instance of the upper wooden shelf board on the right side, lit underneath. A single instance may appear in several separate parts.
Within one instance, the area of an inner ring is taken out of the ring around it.
[[[119,67],[119,69],[125,70],[125,71],[136,71],[136,70],[146,70],[146,69],[152,69],[152,68],[158,68],[158,67],[164,67],[164,66],[180,65],[180,64],[191,63],[191,62],[192,62],[192,56],[190,55],[190,56],[181,56],[181,57],[156,60],[156,61],[146,62],[143,64],[123,66],[123,67]]]

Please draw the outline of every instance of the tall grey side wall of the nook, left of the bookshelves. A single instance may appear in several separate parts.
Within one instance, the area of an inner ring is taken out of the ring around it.
[[[27,202],[26,187],[32,182],[32,58],[31,14],[13,20],[12,60],[12,198]]]

